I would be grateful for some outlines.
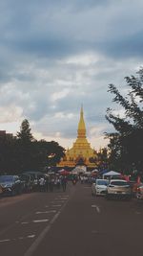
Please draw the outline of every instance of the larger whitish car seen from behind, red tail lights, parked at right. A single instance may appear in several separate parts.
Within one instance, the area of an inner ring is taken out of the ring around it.
[[[106,198],[132,198],[132,188],[124,179],[112,179],[107,186]]]

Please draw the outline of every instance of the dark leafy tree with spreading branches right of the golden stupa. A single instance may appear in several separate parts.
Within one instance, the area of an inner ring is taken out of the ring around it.
[[[122,114],[115,114],[112,108],[108,108],[106,114],[116,130],[106,133],[110,139],[111,165],[126,173],[133,168],[143,173],[143,68],[136,74],[136,77],[125,78],[129,87],[126,96],[115,85],[109,85],[109,92],[114,95],[112,102],[121,106]]]

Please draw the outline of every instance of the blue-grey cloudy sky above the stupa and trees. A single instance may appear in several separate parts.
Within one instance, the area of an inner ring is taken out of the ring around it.
[[[0,129],[27,118],[36,139],[71,147],[83,104],[88,139],[104,147],[108,85],[125,90],[142,64],[142,0],[1,0]]]

